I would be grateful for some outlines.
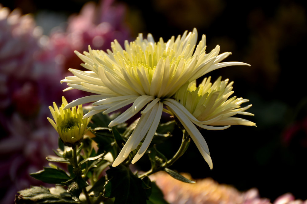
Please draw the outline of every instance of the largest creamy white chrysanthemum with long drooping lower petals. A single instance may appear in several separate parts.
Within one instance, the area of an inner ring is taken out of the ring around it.
[[[196,41],[197,31],[194,29],[193,32],[184,32],[176,39],[173,36],[166,43],[162,38],[159,42],[154,42],[151,34],[148,34],[147,39],[143,39],[142,34],[139,34],[135,41],[125,42],[125,49],[115,40],[111,43],[112,51],[91,50],[90,47],[89,52],[84,52],[84,55],[75,51],[85,62],[81,65],[89,71],[69,69],[75,76],[68,76],[61,82],[70,86],[66,90],[76,88],[97,95],[79,98],[65,108],[94,102],[92,110],[84,116],[89,117],[99,112],[108,114],[133,103],[111,121],[109,127],[127,121],[144,108],[136,128],[115,159],[113,167],[124,161],[145,138],[132,163],[142,157],[161,119],[163,104],[168,102],[181,86],[214,69],[248,65],[242,62],[221,63],[230,52],[219,55],[220,46],[216,46],[206,54],[205,35],[202,35],[197,45]],[[185,108],[172,110],[178,116],[187,111]],[[181,122],[212,168],[208,146],[200,132],[190,120]]]

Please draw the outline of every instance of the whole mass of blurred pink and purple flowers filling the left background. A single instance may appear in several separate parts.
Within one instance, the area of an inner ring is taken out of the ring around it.
[[[48,106],[84,96],[79,90],[63,93],[60,80],[68,67],[80,65],[74,50],[106,50],[111,41],[123,43],[129,31],[125,7],[106,0],[96,8],[88,3],[68,20],[66,32],[42,35],[33,17],[0,5],[0,203],[13,203],[18,190],[39,181],[29,176],[47,166],[58,135],[47,121]],[[3,198],[2,198],[3,197]]]

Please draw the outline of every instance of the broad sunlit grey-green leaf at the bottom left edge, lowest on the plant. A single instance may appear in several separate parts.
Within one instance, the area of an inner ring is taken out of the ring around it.
[[[72,200],[72,197],[69,193],[65,191],[64,188],[60,186],[52,187],[50,189],[42,186],[32,186],[22,191],[18,191],[19,195],[15,195],[16,204],[25,204],[25,203],[84,203],[76,202]]]

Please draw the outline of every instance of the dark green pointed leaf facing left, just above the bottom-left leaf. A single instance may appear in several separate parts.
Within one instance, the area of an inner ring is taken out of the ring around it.
[[[30,176],[37,180],[41,180],[48,184],[60,184],[71,179],[63,169],[57,168],[48,168],[44,167],[44,170],[30,173]]]

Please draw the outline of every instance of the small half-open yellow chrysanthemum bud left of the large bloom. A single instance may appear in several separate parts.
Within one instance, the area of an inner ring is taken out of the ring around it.
[[[86,127],[91,117],[83,119],[82,105],[79,105],[78,109],[73,106],[72,109],[64,110],[64,106],[68,104],[64,96],[62,97],[62,102],[60,108],[56,106],[55,102],[53,102],[53,108],[49,106],[55,122],[49,117],[47,119],[59,133],[62,142],[68,147],[73,147],[83,139],[83,135],[89,130]]]

